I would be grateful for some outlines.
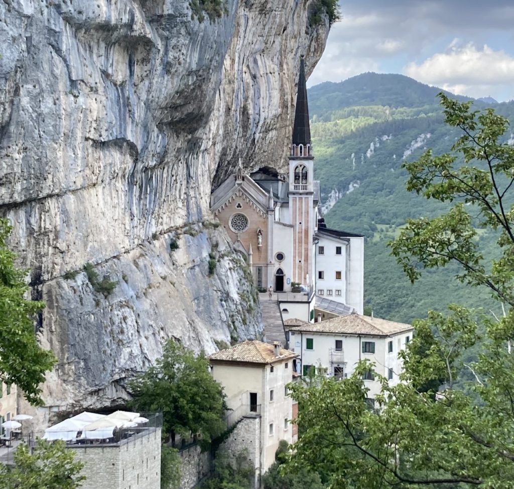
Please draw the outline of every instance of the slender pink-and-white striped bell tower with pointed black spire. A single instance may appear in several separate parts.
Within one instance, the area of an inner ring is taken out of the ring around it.
[[[314,284],[314,156],[310,141],[309,107],[303,56],[300,62],[295,125],[289,153],[289,210],[293,225],[292,280]]]

